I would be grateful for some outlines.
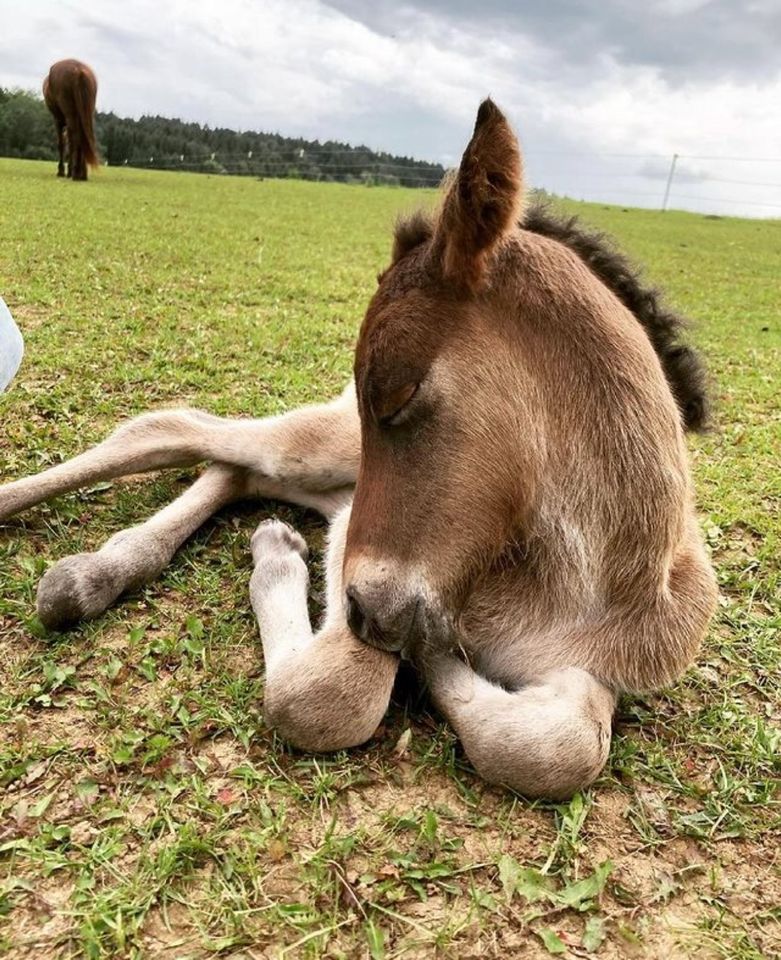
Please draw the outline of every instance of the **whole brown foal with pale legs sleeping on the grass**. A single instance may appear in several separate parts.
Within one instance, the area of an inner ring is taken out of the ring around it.
[[[269,723],[305,750],[371,737],[413,659],[475,769],[529,796],[590,783],[621,692],[674,680],[716,599],[684,427],[702,373],[619,255],[524,211],[490,101],[442,208],[399,226],[335,401],[264,420],[148,414],[0,488],[0,518],[98,480],[212,461],[178,500],[41,581],[50,627],[156,577],[211,514],[277,497],[330,521],[312,630],[306,546],[252,538]]]

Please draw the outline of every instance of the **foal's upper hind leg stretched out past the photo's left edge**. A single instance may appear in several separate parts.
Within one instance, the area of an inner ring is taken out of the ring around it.
[[[349,388],[331,403],[264,420],[163,410],[123,424],[108,439],[65,463],[0,486],[0,520],[101,480],[203,460],[247,467],[254,475],[251,492],[256,496],[294,499],[320,509],[318,495],[355,483],[359,457],[360,423]],[[300,496],[288,497],[290,489]],[[312,503],[303,499],[306,491],[312,493]],[[339,504],[343,502],[341,497]]]

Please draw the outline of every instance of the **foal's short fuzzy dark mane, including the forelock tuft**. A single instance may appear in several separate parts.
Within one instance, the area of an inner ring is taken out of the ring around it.
[[[613,291],[648,335],[686,429],[706,429],[710,409],[705,367],[698,352],[680,342],[687,322],[665,306],[658,290],[642,282],[640,271],[612,239],[585,229],[577,217],[554,213],[546,203],[530,206],[519,226],[569,247]],[[400,220],[394,235],[394,262],[429,240],[433,229],[434,221],[422,212]]]

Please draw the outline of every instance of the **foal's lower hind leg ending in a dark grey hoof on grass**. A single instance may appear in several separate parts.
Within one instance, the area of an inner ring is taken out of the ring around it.
[[[201,524],[246,492],[245,470],[214,464],[145,523],[115,534],[95,553],[60,560],[38,585],[41,621],[59,629],[103,613],[120,594],[153,580]]]

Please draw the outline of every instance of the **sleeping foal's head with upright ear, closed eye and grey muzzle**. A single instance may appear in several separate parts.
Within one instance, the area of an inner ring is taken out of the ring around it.
[[[533,463],[507,444],[521,426],[519,370],[488,290],[521,203],[518,143],[487,100],[436,223],[397,231],[360,332],[344,582],[354,632],[380,646],[445,622],[524,507],[519,479]]]

